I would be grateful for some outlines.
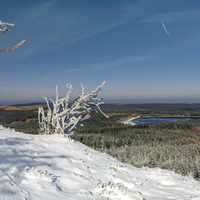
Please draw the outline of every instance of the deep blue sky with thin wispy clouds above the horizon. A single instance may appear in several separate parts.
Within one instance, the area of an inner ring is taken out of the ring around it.
[[[7,0],[0,104],[72,99],[104,80],[105,100],[200,98],[199,0]],[[200,102],[200,101],[199,101]]]

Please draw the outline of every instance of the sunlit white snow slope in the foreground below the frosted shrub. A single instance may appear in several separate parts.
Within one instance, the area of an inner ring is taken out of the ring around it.
[[[0,126],[0,199],[200,199],[200,183],[123,164],[62,135]]]

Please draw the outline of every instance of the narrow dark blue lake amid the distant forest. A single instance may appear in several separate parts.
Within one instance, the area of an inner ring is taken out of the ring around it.
[[[177,121],[189,121],[189,120],[200,120],[200,118],[191,117],[151,117],[135,119],[132,122],[135,124],[147,124],[147,123],[159,123],[159,122],[177,122]]]

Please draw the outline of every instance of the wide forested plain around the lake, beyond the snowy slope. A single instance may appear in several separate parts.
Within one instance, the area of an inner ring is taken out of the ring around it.
[[[36,109],[14,107],[23,109],[0,109],[1,124],[16,131],[37,134]],[[103,111],[110,116],[109,120],[94,112],[83,126],[76,128],[72,137],[124,163],[173,170],[200,180],[200,121],[137,126],[119,123],[120,119],[135,115],[199,116],[200,104],[106,104]]]

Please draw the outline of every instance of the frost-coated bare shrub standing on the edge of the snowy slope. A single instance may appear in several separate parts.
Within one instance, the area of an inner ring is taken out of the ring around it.
[[[66,85],[69,89],[67,96],[61,99],[58,99],[58,87],[56,86],[56,100],[50,99],[53,109],[50,108],[47,98],[43,97],[47,102],[47,114],[45,115],[43,107],[38,110],[39,134],[69,134],[80,121],[90,117],[89,113],[93,110],[91,105],[95,105],[108,118],[99,107],[103,103],[100,102],[102,99],[97,97],[97,93],[105,84],[106,82],[104,81],[101,86],[98,86],[89,94],[85,94],[84,87],[81,84],[82,94],[74,100],[71,106],[69,106],[69,96],[72,91],[72,85],[69,83]]]

